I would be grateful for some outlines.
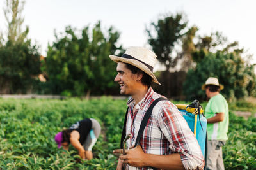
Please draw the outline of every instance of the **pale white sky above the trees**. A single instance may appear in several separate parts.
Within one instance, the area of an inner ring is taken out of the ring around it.
[[[0,0],[0,31],[6,31],[3,6]],[[54,29],[65,27],[81,30],[86,25],[101,21],[103,29],[111,25],[121,33],[119,43],[129,46],[147,46],[146,25],[156,22],[164,13],[183,12],[189,26],[196,25],[201,36],[220,31],[228,40],[238,41],[253,54],[256,63],[256,1],[250,0],[26,0],[24,25],[29,27],[29,38],[41,46],[46,55],[47,43],[52,43]]]

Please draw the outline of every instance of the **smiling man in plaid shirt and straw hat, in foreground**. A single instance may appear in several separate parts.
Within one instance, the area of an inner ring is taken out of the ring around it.
[[[116,169],[202,169],[204,158],[200,146],[179,110],[170,101],[159,101],[152,110],[138,146],[134,143],[141,121],[154,100],[163,97],[151,87],[160,84],[153,74],[157,56],[142,47],[128,48],[122,57],[109,55],[117,63],[115,81],[120,93],[131,96],[127,102],[125,154],[119,156]],[[123,153],[122,149],[113,153]],[[139,168],[140,167],[140,168]]]

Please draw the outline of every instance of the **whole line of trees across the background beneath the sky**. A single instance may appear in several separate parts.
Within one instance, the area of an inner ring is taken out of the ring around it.
[[[116,64],[108,56],[124,53],[120,32],[114,27],[103,30],[100,21],[82,30],[68,26],[64,32],[54,32],[47,56],[40,58],[39,46],[28,38],[29,27],[22,30],[23,8],[24,1],[6,0],[3,9],[8,31],[0,34],[1,94],[119,94],[113,81]],[[215,76],[229,99],[256,96],[252,55],[221,32],[200,36],[198,29],[188,26],[184,13],[166,13],[147,25],[148,45],[164,70],[156,73],[163,87],[154,88],[168,97],[204,99],[201,85]],[[39,81],[39,74],[46,82]]]

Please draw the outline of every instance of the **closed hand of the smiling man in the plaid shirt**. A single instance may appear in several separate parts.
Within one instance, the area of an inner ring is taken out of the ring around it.
[[[122,149],[113,150],[113,153],[123,153],[123,150]],[[145,165],[146,156],[147,156],[147,153],[143,152],[141,146],[138,145],[136,146],[136,148],[125,150],[125,155],[120,155],[119,159],[123,160],[123,164],[129,164],[129,166],[134,166],[134,167],[143,167],[143,166],[147,166]]]

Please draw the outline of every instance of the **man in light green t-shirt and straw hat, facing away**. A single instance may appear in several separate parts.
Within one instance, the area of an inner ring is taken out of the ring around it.
[[[209,77],[202,85],[202,90],[209,98],[205,108],[208,135],[206,169],[224,169],[221,146],[228,139],[228,103],[220,94],[222,89],[223,85],[214,77]]]

